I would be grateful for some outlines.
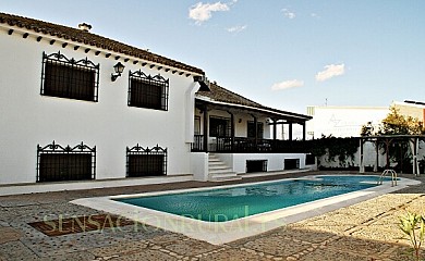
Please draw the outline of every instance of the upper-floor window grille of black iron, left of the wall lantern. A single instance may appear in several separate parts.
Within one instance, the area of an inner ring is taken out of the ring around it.
[[[42,52],[42,96],[53,96],[86,101],[98,101],[99,64],[87,58],[74,60],[60,52]]]

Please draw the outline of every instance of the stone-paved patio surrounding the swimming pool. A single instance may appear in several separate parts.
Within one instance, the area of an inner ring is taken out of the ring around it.
[[[69,203],[77,198],[217,184],[187,182],[0,197],[0,260],[413,260],[408,252],[409,243],[398,228],[398,217],[405,210],[424,213],[425,177],[404,177],[423,183],[222,246],[143,224],[52,237],[28,225],[102,214]]]

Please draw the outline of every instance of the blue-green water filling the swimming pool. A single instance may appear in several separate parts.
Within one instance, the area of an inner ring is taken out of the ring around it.
[[[378,176],[317,176],[117,201],[191,219],[224,222],[377,186]]]

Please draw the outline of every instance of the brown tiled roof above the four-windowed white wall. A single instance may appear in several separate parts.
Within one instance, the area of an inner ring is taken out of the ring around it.
[[[72,28],[63,25],[57,25],[39,20],[27,18],[19,15],[7,14],[0,12],[0,24],[8,24],[10,26],[17,26],[20,28],[26,28],[35,33],[42,33],[45,35],[56,36],[65,40],[71,39],[75,42],[84,42],[96,48],[101,48],[122,54],[139,58],[146,61],[160,63],[163,65],[172,66],[175,69],[204,74],[204,71],[143,49],[138,49],[102,36],[98,36],[88,32],[81,30],[78,28]]]

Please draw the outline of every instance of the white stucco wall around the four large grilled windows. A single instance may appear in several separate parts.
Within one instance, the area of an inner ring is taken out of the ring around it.
[[[37,145],[52,140],[96,146],[97,179],[125,177],[125,148],[136,144],[168,148],[168,175],[191,173],[186,141],[193,127],[186,125],[193,124],[193,103],[187,105],[193,98],[185,96],[198,87],[193,76],[120,59],[124,73],[111,82],[114,55],[95,55],[89,48],[88,53],[85,47],[75,51],[71,45],[50,45],[46,37],[37,42],[34,36],[24,39],[16,30],[10,36],[0,27],[0,184],[36,182]],[[40,96],[42,51],[100,63],[98,102]],[[127,107],[129,70],[139,69],[170,79],[168,111]]]

